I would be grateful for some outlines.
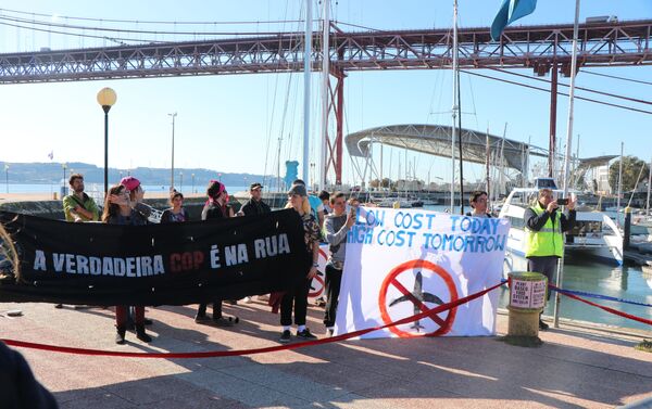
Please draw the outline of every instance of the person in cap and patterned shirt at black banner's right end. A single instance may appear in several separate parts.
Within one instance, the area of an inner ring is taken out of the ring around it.
[[[283,332],[281,343],[290,342],[290,328],[292,325],[292,304],[294,306],[294,323],[297,324],[297,337],[302,340],[315,340],[310,330],[305,327],[305,316],[308,315],[308,292],[312,279],[317,274],[317,260],[319,256],[319,240],[322,233],[317,220],[310,212],[308,202],[308,192],[305,186],[294,184],[288,192],[288,201],[291,207],[299,213],[303,222],[305,251],[309,253],[306,259],[311,267],[305,266],[308,274],[305,279],[300,280],[293,289],[288,290],[280,302],[280,324]]]

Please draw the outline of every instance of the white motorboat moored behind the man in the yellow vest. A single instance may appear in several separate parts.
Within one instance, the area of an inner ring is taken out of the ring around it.
[[[506,271],[526,271],[525,210],[536,200],[538,188],[514,189],[500,212],[499,217],[510,219],[511,228],[505,251]],[[554,189],[561,196],[563,191]],[[577,210],[575,227],[565,234],[565,255],[594,258],[600,261],[623,264],[623,235],[616,223],[601,212],[581,208]]]

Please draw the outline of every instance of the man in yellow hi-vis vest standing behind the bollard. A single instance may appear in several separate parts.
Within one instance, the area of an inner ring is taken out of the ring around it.
[[[557,260],[564,255],[564,232],[575,226],[575,197],[570,195],[567,201],[568,216],[557,212],[561,201],[554,199],[552,190],[541,189],[537,201],[525,210],[527,269],[544,274],[548,282],[552,282]],[[539,329],[548,329],[540,318]]]

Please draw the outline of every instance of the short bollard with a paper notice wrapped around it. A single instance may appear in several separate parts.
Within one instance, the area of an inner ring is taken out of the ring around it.
[[[509,274],[510,305],[507,336],[539,337],[539,314],[546,306],[548,279],[539,272],[515,271]]]

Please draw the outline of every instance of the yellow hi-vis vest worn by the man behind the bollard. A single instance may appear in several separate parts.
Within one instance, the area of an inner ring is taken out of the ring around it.
[[[535,206],[530,207],[537,216],[541,216],[544,208],[537,202]],[[539,231],[531,230],[525,226],[526,237],[526,251],[525,256],[541,257],[541,256],[557,256],[564,255],[564,233],[562,232],[562,215],[556,215],[554,222],[552,218],[548,218],[546,225]],[[527,221],[527,220],[526,220]]]

